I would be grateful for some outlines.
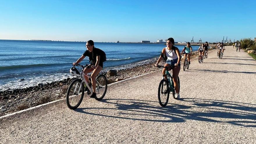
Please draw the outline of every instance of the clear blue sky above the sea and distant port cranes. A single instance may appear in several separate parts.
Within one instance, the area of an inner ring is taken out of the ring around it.
[[[255,0],[2,0],[0,39],[233,41],[256,37],[255,6]]]

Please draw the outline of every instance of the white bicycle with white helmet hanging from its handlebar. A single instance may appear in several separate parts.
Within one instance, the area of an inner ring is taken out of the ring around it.
[[[82,69],[81,73],[77,70],[75,66],[78,66]],[[78,76],[77,79],[74,79],[70,86],[67,89],[67,106],[70,109],[76,109],[82,102],[84,92],[87,91],[87,94],[90,95],[90,93],[93,92],[93,87],[91,83],[89,84],[84,77],[91,78],[89,75],[84,74],[83,70],[85,68],[90,68],[88,65],[74,65],[70,69],[70,73],[74,76]],[[86,86],[86,88],[85,88]],[[96,78],[96,100],[101,100],[106,94],[108,87],[107,78],[105,75],[100,74]]]

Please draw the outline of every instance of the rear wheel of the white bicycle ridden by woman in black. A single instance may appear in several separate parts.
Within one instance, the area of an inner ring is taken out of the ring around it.
[[[103,97],[106,95],[107,88],[108,88],[108,81],[104,74],[100,74],[96,79],[99,83],[96,82],[96,97],[95,97],[95,99],[99,101],[99,100],[103,99]],[[99,84],[103,87],[101,87]]]

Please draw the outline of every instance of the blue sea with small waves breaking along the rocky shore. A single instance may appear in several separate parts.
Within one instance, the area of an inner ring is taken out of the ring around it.
[[[72,77],[72,62],[86,50],[86,42],[0,40],[0,91]],[[95,42],[106,53],[104,70],[126,69],[156,61],[163,44]],[[176,46],[180,50],[184,46]],[[197,47],[193,48],[193,51]],[[80,64],[88,64],[86,57]]]

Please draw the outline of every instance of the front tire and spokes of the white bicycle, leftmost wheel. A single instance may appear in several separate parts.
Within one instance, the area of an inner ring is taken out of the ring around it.
[[[78,83],[77,83],[78,82]],[[73,92],[73,93],[76,93],[76,96],[74,96],[74,95],[72,95],[72,97],[71,97],[71,95],[70,95],[70,91],[71,91],[71,89],[72,89],[72,87],[73,86],[75,86],[76,85],[76,83],[77,83],[77,86],[80,86],[80,84],[81,84],[81,82],[82,82],[82,80],[81,79],[74,79],[72,82],[71,82],[71,84],[70,84],[70,86],[68,87],[68,89],[67,89],[67,96],[66,96],[66,102],[67,102],[67,107],[68,108],[70,108],[70,109],[76,109],[80,104],[81,104],[81,102],[82,102],[82,100],[83,100],[83,95],[84,95],[84,85],[82,84],[82,88],[80,89],[80,90],[82,90],[82,93],[81,93],[81,97],[79,98],[79,97],[77,97],[78,95],[79,95],[79,93],[81,92]],[[75,90],[79,90],[79,87],[77,87],[77,86],[75,86]],[[71,92],[72,93],[72,92]],[[74,102],[74,106],[73,106],[73,104],[71,104],[71,102],[73,102],[73,101],[78,101],[77,103],[76,102]]]

